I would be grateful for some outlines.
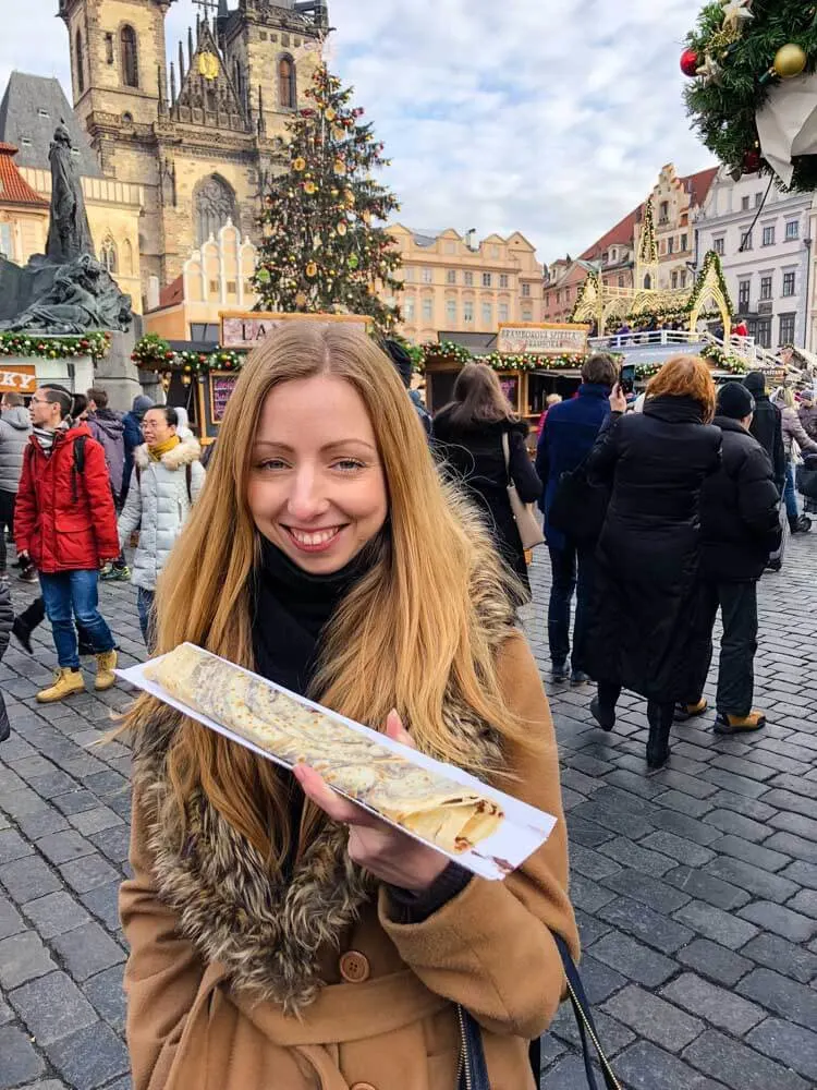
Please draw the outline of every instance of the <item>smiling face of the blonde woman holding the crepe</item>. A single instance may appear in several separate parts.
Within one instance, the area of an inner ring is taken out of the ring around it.
[[[363,399],[345,379],[282,383],[264,402],[247,488],[253,521],[300,568],[339,571],[388,514]]]

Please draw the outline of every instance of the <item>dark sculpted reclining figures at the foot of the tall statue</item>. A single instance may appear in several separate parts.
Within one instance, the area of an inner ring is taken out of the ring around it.
[[[89,254],[58,268],[51,288],[0,328],[34,334],[84,334],[89,329],[127,329],[131,296]]]

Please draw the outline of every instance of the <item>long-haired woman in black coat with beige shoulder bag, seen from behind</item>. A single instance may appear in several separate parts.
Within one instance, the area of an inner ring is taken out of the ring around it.
[[[523,504],[541,496],[541,481],[525,447],[527,431],[497,373],[485,363],[467,363],[454,384],[454,400],[437,413],[431,434],[438,453],[485,513],[497,548],[529,594],[525,553],[508,498],[510,481]]]

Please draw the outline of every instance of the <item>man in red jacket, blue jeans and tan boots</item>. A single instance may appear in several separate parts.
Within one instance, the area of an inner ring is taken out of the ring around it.
[[[115,685],[111,631],[99,613],[100,565],[119,556],[117,514],[102,447],[87,424],[72,426],[71,395],[40,386],[31,400],[34,434],[23,458],[14,511],[17,555],[39,570],[59,669],[41,703],[84,692],[74,616],[88,632],[97,659],[95,689]]]

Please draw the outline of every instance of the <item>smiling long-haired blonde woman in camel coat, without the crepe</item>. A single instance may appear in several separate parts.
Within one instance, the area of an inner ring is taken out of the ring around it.
[[[479,1012],[491,1085],[533,1090],[526,1039],[563,988],[552,931],[577,942],[552,722],[486,531],[369,338],[286,323],[252,354],[157,602],[160,652],[204,646],[559,821],[504,882],[471,877],[315,770],[142,698],[121,895],[135,1090],[395,1070],[451,1090],[458,1005]]]

